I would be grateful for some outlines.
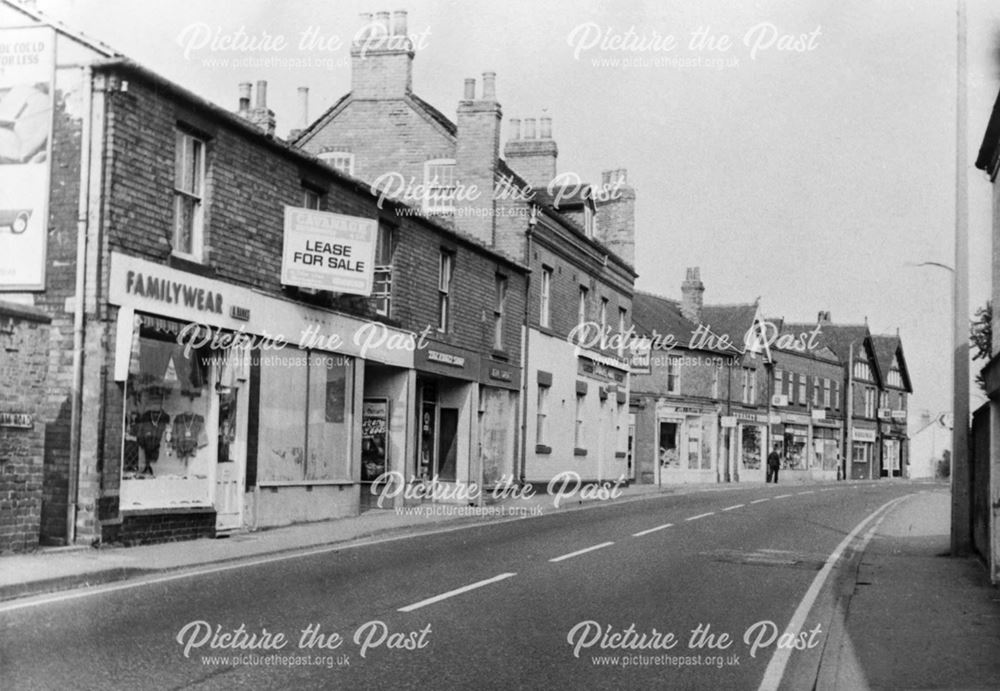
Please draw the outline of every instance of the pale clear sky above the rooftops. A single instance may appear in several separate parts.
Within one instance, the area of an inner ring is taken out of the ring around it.
[[[956,3],[943,0],[38,0],[224,107],[267,80],[278,134],[350,89],[362,12],[405,9],[413,90],[454,118],[497,73],[508,118],[553,119],[560,172],[636,189],[637,287],[771,317],[899,330],[911,411],[950,408]],[[989,297],[991,184],[972,166],[1000,89],[1000,3],[967,0],[970,304]],[[244,36],[241,50],[225,49]],[[281,41],[279,42],[279,39]],[[311,41],[311,43],[310,43]],[[641,41],[641,44],[637,44]],[[669,48],[669,49],[668,49]],[[973,363],[973,373],[982,361]],[[985,398],[974,394],[972,408]]]

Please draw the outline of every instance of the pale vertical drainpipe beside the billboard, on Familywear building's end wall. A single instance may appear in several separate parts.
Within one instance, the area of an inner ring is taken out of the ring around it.
[[[73,297],[73,383],[70,389],[69,477],[66,496],[66,544],[76,542],[76,512],[80,490],[80,414],[83,408],[84,290],[87,279],[87,214],[90,201],[90,136],[93,84],[83,68],[83,123],[80,136],[80,199],[76,219],[76,294]]]

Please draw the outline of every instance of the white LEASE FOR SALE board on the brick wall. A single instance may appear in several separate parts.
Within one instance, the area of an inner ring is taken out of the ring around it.
[[[373,218],[286,206],[281,282],[371,295],[377,236]]]

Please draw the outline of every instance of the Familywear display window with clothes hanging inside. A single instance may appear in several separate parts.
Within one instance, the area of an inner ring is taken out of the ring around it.
[[[209,505],[210,351],[142,327],[126,382],[121,505]]]

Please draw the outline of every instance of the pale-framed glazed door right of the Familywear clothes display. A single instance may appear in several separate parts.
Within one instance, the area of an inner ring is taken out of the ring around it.
[[[215,469],[215,531],[243,526],[243,485],[246,467],[247,411],[239,388],[219,394],[219,440]]]

